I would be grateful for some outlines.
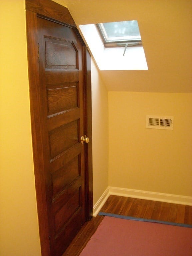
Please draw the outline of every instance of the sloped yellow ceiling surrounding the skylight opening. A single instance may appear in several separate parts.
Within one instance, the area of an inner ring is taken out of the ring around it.
[[[109,91],[192,92],[191,0],[55,0],[78,25],[137,20],[149,70],[99,71]]]

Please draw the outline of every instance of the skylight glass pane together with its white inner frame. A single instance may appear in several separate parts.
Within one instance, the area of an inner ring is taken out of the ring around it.
[[[105,43],[141,42],[138,22],[119,21],[97,24]]]

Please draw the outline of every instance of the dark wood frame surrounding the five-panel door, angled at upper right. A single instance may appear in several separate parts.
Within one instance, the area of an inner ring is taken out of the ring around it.
[[[71,17],[69,10],[51,0],[26,0],[26,30],[27,30],[27,55],[28,76],[30,91],[31,130],[33,145],[33,162],[35,173],[35,188],[39,220],[39,234],[42,256],[50,256],[49,224],[47,215],[46,192],[43,185],[44,160],[43,160],[43,134],[41,120],[41,102],[39,93],[39,63],[38,63],[38,25],[37,17],[73,28],[83,45],[83,72],[84,72],[84,99],[85,99],[85,134],[89,137],[89,144],[85,149],[86,172],[86,220],[93,215],[93,174],[92,174],[92,112],[91,112],[91,56],[85,43]]]

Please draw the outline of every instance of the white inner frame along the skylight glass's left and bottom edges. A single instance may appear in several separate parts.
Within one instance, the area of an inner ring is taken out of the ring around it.
[[[111,22],[112,23],[112,22]],[[103,23],[96,24],[97,28],[100,32],[100,35],[102,37],[102,40],[104,44],[110,44],[110,43],[139,43],[141,42],[141,35],[134,35],[134,36],[116,36],[116,37],[108,37],[107,32],[105,30],[105,27]]]

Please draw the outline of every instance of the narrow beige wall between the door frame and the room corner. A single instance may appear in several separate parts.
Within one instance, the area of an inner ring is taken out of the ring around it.
[[[108,91],[92,60],[93,204],[108,187]]]

